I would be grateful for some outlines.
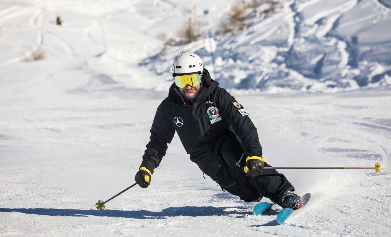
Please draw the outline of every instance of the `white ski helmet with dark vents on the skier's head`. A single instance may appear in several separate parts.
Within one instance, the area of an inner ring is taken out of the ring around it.
[[[171,74],[175,77],[178,74],[202,74],[204,72],[204,65],[202,64],[201,57],[197,54],[184,52],[176,56],[172,62]]]

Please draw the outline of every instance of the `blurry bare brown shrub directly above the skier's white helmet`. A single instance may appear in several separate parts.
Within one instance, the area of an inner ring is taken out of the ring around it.
[[[185,10],[188,18],[177,32],[177,36],[183,40],[183,43],[191,43],[198,40],[201,34],[200,16],[195,13],[195,9]]]

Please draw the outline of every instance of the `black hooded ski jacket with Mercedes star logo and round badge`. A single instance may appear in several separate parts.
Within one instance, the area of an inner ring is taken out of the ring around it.
[[[156,111],[151,141],[147,144],[141,166],[151,171],[159,166],[175,131],[190,159],[212,178],[217,173],[215,167],[220,167],[212,156],[227,136],[237,135],[246,155],[244,157],[262,156],[256,128],[246,110],[218,85],[204,69],[200,92],[190,102],[182,97],[175,83],[172,84],[169,96]]]

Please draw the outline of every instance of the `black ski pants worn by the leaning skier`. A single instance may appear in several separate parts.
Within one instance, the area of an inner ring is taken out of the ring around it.
[[[255,178],[245,174],[246,157],[236,135],[226,137],[214,150],[190,154],[190,158],[223,189],[240,199],[251,202],[267,197],[281,206],[284,192],[294,190],[287,178],[274,169],[264,169]],[[270,167],[267,163],[265,166]]]

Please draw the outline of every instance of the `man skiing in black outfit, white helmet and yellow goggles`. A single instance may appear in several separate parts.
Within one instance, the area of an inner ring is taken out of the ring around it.
[[[210,78],[201,58],[179,54],[172,63],[175,82],[156,111],[150,142],[135,181],[151,183],[175,131],[201,171],[222,189],[251,202],[268,197],[283,208],[296,210],[300,197],[283,174],[262,158],[258,133],[247,111],[219,83]]]

